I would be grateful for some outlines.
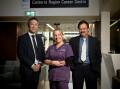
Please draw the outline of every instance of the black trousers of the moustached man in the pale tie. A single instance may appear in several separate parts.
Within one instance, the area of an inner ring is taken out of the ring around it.
[[[72,71],[73,89],[83,89],[85,80],[86,89],[97,89],[97,75],[91,71],[89,64],[78,64]]]

